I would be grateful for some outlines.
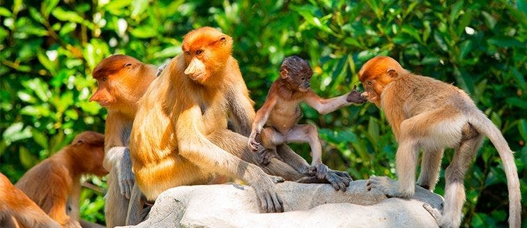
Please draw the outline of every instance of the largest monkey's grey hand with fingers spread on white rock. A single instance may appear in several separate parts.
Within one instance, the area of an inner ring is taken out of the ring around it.
[[[259,169],[259,168],[258,168]],[[257,198],[260,201],[262,211],[268,213],[284,212],[284,206],[282,199],[278,197],[275,191],[275,183],[283,182],[284,178],[279,176],[268,176],[259,169],[259,177],[254,178],[254,181],[250,183]]]

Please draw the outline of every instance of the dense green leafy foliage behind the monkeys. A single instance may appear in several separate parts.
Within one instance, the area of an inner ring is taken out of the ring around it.
[[[106,111],[88,99],[96,88],[91,70],[105,56],[128,54],[160,65],[181,52],[185,33],[215,26],[234,38],[234,56],[257,107],[282,59],[293,54],[310,61],[321,96],[359,84],[358,69],[379,54],[459,86],[517,151],[526,199],[526,13],[525,1],[505,0],[7,1],[0,6],[0,172],[15,182],[78,132],[103,132]],[[307,106],[303,111],[303,122],[319,126],[330,167],[354,178],[395,176],[397,143],[377,107],[325,116]],[[309,146],[295,149],[310,159]],[[451,158],[450,150],[443,171]],[[463,225],[505,226],[505,174],[489,142],[467,176]],[[89,178],[102,188],[104,181]],[[82,192],[82,216],[104,222],[102,192],[92,189]]]

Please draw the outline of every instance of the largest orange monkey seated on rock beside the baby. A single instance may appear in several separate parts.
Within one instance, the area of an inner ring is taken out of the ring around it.
[[[225,174],[250,183],[263,211],[283,211],[274,190],[274,183],[283,178],[268,176],[213,142],[241,138],[245,144],[242,135],[227,130],[228,87],[245,87],[231,56],[232,42],[211,27],[190,31],[183,38],[183,53],[171,60],[139,102],[130,156],[137,186],[146,199]]]

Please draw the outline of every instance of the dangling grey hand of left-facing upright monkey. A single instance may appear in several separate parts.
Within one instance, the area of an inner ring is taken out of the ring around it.
[[[130,149],[125,149],[123,158],[117,160],[116,168],[121,195],[125,196],[126,199],[130,199],[132,188],[134,188],[134,174],[132,173]]]

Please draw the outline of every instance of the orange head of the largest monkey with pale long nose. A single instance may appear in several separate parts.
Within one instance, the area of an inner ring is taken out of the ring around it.
[[[185,56],[185,75],[199,84],[222,71],[232,50],[232,38],[217,29],[204,27],[190,31],[181,45]]]

